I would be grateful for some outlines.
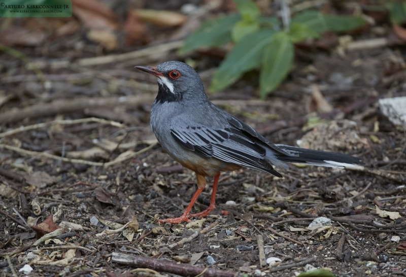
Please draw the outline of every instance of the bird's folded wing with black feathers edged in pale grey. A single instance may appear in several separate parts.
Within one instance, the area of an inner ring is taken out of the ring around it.
[[[232,126],[223,129],[188,126],[171,129],[171,134],[183,147],[204,157],[280,176],[266,158],[266,149]]]

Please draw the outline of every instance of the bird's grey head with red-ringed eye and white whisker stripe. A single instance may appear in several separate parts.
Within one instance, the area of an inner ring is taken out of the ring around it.
[[[157,77],[159,89],[156,102],[207,100],[200,76],[181,61],[165,61],[157,67],[136,66],[136,68]]]

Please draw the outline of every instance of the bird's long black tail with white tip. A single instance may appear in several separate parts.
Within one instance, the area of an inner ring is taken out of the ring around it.
[[[340,168],[355,165],[360,166],[365,165],[360,158],[349,155],[299,148],[284,144],[275,144],[275,146],[277,146],[278,148],[284,150],[289,154],[289,156],[286,155],[278,156],[278,160],[287,163],[310,164],[317,166],[340,167]]]

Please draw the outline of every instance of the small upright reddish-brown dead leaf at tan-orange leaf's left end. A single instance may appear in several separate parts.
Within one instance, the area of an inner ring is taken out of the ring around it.
[[[127,34],[127,45],[145,44],[149,41],[147,26],[136,13],[132,13],[131,11],[127,13],[124,30]]]

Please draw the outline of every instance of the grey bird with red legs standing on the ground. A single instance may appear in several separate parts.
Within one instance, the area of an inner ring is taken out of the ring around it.
[[[274,169],[288,163],[340,167],[363,165],[356,157],[339,153],[273,144],[240,119],[220,109],[206,96],[196,71],[180,61],[166,61],[157,67],[137,66],[157,77],[158,95],[151,110],[151,129],[166,152],[197,176],[197,191],[179,218],[160,222],[189,222],[206,217],[215,207],[221,171],[248,167],[278,177]],[[214,176],[209,208],[190,211],[206,187],[206,177]]]

